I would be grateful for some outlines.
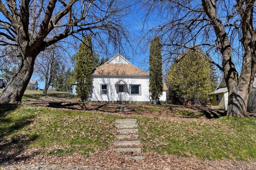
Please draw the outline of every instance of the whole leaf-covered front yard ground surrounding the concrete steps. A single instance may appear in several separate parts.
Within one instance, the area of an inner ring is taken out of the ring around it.
[[[24,104],[0,105],[0,168],[49,169],[65,164],[70,169],[256,167],[253,118],[230,119],[224,111],[165,104],[49,99],[52,101],[28,99]],[[118,110],[125,106],[131,110]],[[126,160],[112,152],[114,120],[123,118],[138,120],[143,160]]]

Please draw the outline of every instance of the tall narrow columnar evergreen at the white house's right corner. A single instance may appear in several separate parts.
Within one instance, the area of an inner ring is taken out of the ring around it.
[[[149,91],[154,104],[163,94],[162,78],[162,54],[161,43],[158,36],[155,36],[150,43],[149,51]]]

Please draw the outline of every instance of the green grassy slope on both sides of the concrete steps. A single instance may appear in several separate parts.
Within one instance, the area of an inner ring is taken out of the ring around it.
[[[45,97],[41,92],[26,90],[23,100],[40,100]],[[63,98],[62,95],[66,93],[49,92],[48,95]],[[196,156],[202,159],[256,158],[255,119],[195,118],[201,112],[193,113],[184,107],[179,110],[174,106],[173,109],[167,109],[167,105],[154,107],[142,104],[132,107],[134,113],[141,113],[134,118],[138,119],[144,151],[154,150],[161,154]],[[162,116],[161,119],[158,115]],[[39,147],[49,154],[79,152],[88,155],[94,150],[110,146],[114,119],[117,118],[122,117],[29,104],[2,104],[0,150]],[[1,144],[1,139],[4,144]]]

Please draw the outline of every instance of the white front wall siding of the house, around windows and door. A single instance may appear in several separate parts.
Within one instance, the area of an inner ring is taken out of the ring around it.
[[[125,85],[125,92],[118,93],[118,88],[116,82],[120,79],[124,80],[128,85]],[[108,84],[108,95],[100,94],[101,84]],[[129,94],[129,85],[130,84],[140,84],[141,94],[140,95],[130,95]],[[146,77],[133,77],[133,76],[93,76],[93,86],[92,86],[92,95],[88,100],[92,101],[117,101],[121,100],[126,101],[150,101],[149,94],[149,78]]]

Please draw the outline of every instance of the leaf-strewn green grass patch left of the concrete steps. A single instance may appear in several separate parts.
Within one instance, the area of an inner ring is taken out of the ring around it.
[[[44,148],[47,154],[89,155],[110,147],[114,115],[0,105],[0,150]]]

